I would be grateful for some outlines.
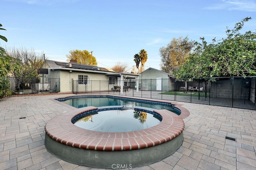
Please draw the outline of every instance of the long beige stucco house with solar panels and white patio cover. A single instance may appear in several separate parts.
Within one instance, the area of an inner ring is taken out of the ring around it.
[[[133,85],[130,88],[136,88],[140,76],[140,74],[120,73],[109,68],[78,64],[75,60],[71,60],[70,63],[45,60],[43,69],[48,74],[40,74],[40,82],[44,82],[44,86],[49,84],[45,89],[53,92],[108,91],[114,86],[120,86],[122,93],[124,86]]]

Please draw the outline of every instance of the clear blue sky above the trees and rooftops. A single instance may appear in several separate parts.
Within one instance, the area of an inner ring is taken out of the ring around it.
[[[70,50],[93,51],[98,66],[135,65],[145,49],[145,68],[160,69],[160,47],[173,38],[206,41],[226,37],[243,18],[256,29],[256,0],[0,0],[0,41],[7,48],[34,49],[66,61]]]

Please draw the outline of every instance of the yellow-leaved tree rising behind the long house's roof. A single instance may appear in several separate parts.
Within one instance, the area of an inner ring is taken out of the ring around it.
[[[68,58],[67,60],[76,60],[77,63],[80,64],[87,64],[87,65],[94,65],[97,66],[97,61],[96,58],[93,57],[89,51],[84,50],[84,51],[80,51],[80,50],[71,50],[69,51],[70,54],[66,55],[66,57]]]

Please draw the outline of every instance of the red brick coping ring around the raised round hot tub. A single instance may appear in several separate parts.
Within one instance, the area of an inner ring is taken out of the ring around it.
[[[83,107],[54,117],[46,124],[45,131],[51,139],[80,149],[104,151],[143,149],[166,143],[182,133],[184,130],[182,117],[188,116],[189,112],[183,107],[178,106],[178,108],[187,113],[178,116],[166,109],[155,109],[154,112],[162,116],[162,121],[158,125],[139,131],[111,133],[91,131],[74,125],[71,122],[74,116],[98,109],[92,106]]]

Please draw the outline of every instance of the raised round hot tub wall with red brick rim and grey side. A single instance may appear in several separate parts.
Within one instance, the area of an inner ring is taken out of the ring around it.
[[[116,165],[131,168],[162,160],[182,144],[184,121],[166,109],[135,107],[135,110],[153,112],[162,117],[158,125],[138,131],[91,131],[71,122],[79,115],[111,109],[123,109],[123,106],[82,107],[54,117],[45,127],[46,149],[74,164],[95,168],[116,168]]]

